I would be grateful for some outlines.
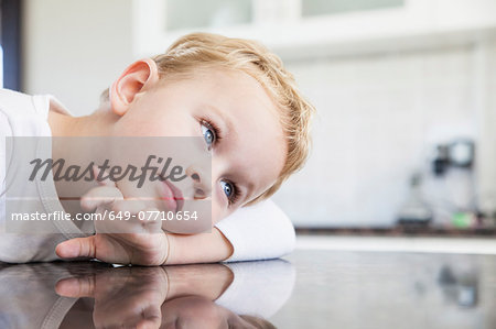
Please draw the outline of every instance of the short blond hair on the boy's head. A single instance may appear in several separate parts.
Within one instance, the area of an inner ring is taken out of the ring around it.
[[[152,57],[160,77],[187,74],[198,67],[239,69],[258,80],[280,109],[287,139],[284,166],[276,180],[255,204],[273,195],[281,184],[306,161],[311,144],[310,123],[315,111],[296,88],[293,76],[282,61],[258,42],[212,33],[192,33],[172,44],[164,54]],[[108,89],[103,100],[108,99]]]

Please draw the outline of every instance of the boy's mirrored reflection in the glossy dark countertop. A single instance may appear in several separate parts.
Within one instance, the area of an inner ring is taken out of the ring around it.
[[[274,260],[120,266],[0,265],[0,328],[274,328],[294,268]]]

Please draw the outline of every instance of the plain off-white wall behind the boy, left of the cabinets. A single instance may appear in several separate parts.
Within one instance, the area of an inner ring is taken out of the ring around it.
[[[25,0],[23,89],[52,94],[75,114],[133,59],[131,0]]]

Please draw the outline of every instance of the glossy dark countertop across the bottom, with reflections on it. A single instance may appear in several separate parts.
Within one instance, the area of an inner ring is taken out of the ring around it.
[[[263,318],[277,328],[493,329],[496,255],[298,250],[228,265],[0,264],[0,293],[2,329],[270,328]]]

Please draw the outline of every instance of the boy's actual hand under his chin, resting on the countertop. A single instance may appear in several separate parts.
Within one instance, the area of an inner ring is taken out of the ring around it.
[[[60,243],[56,253],[62,259],[90,257],[107,263],[162,265],[168,260],[169,239],[162,231],[160,220],[141,221],[138,213],[147,209],[138,200],[126,200],[121,191],[110,182],[93,188],[82,198],[82,207],[98,213],[125,213],[129,220],[95,221],[96,234],[76,238]]]

